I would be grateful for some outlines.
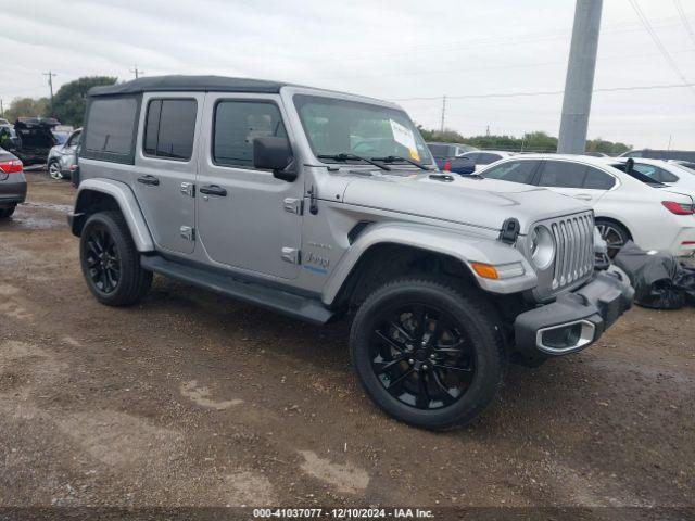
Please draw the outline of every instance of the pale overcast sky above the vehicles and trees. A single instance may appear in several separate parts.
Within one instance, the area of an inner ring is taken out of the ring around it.
[[[636,0],[695,82],[695,0]],[[0,0],[0,98],[79,76],[218,74],[399,101],[465,136],[557,136],[574,0]],[[688,25],[690,24],[690,31]],[[605,0],[594,87],[682,85],[629,0]],[[456,97],[468,97],[458,98]],[[418,99],[420,98],[420,99]],[[425,99],[422,99],[425,98]],[[695,87],[595,92],[589,136],[695,150]]]

